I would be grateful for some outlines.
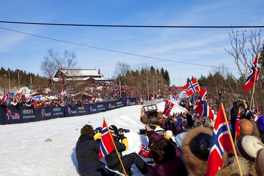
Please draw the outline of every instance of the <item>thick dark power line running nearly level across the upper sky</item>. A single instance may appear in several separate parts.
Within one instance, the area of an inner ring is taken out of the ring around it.
[[[84,24],[58,24],[0,21],[0,23],[26,24],[26,25],[52,25],[52,26],[86,26],[86,27],[124,27],[124,28],[263,28],[264,26],[147,26],[147,25],[84,25]]]

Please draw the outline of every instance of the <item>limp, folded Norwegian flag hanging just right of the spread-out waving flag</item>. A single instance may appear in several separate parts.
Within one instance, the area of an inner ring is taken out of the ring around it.
[[[206,95],[207,95],[207,91],[201,88],[201,101],[198,103],[198,106],[196,107],[195,111],[201,117],[209,117],[213,120],[214,114],[206,102]]]

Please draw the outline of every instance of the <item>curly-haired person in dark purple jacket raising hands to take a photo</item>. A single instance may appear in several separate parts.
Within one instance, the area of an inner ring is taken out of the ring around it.
[[[148,125],[146,130],[149,139],[153,141],[150,153],[155,162],[155,165],[150,169],[150,175],[187,176],[188,173],[181,157],[181,150],[170,138],[172,132],[168,130],[168,135],[160,136]]]

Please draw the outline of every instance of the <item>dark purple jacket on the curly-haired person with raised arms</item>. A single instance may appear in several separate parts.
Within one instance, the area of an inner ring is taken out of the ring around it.
[[[153,142],[163,138],[163,136],[160,136],[160,135],[154,133],[154,131],[149,131],[147,135],[149,138],[152,139]],[[177,157],[172,161],[167,161],[167,162],[164,162],[162,164],[155,164],[150,169],[150,175],[151,176],[156,176],[156,175],[188,176],[186,166],[182,160],[181,149],[173,141],[171,141],[171,143],[175,147]]]

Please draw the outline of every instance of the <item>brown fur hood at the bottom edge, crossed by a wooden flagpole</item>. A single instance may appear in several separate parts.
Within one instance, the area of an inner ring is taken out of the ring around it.
[[[248,176],[250,169],[249,163],[242,157],[238,157],[238,160],[243,176]],[[223,167],[216,173],[216,176],[221,175],[239,175],[235,157],[228,158],[226,152],[223,155]]]

